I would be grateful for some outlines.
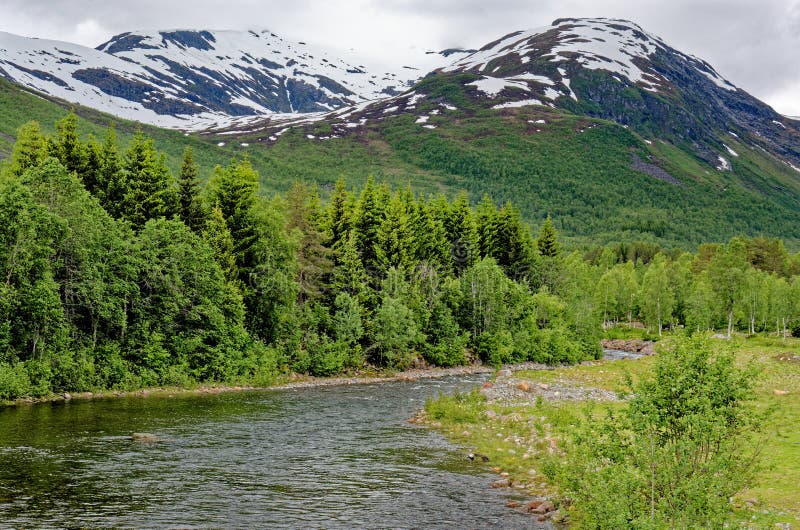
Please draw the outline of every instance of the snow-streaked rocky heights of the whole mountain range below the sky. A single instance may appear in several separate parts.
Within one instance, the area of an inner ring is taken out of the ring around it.
[[[559,19],[478,50],[426,53],[389,73],[269,31],[123,33],[97,49],[0,33],[0,75],[145,123],[275,133],[320,120],[350,129],[413,110],[427,94],[412,85],[427,77],[428,87],[461,83],[482,106],[544,105],[613,120],[723,169],[735,156],[730,138],[800,168],[798,121],[625,20]]]

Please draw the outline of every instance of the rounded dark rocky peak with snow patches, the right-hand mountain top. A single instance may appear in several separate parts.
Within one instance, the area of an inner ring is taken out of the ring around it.
[[[506,35],[440,73],[472,74],[466,88],[495,108],[547,105],[613,120],[645,137],[688,145],[723,168],[735,155],[720,133],[800,167],[797,121],[633,22],[559,19]]]

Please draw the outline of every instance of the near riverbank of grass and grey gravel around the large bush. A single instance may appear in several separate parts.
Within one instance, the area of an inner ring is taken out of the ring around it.
[[[727,341],[726,341],[727,343]],[[764,466],[757,484],[734,499],[751,527],[800,528],[800,340],[735,339],[737,362],[761,368],[759,409],[776,413],[764,427]],[[569,461],[563,443],[587,409],[619,410],[618,395],[649,373],[655,358],[606,360],[555,370],[498,374],[472,393],[440,397],[418,421],[469,451],[485,455],[500,487],[517,488],[553,503],[556,520],[575,509],[543,468]],[[525,509],[522,504],[515,509]]]

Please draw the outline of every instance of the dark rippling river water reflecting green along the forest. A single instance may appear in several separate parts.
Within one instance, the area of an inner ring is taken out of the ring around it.
[[[535,528],[407,422],[485,377],[0,409],[0,528]]]

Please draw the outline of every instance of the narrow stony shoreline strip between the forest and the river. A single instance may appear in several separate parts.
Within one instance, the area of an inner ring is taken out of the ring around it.
[[[552,370],[555,367],[537,364],[520,363],[506,366],[504,369],[514,372],[524,370]],[[151,387],[138,390],[103,390],[97,392],[73,392],[64,394],[54,394],[39,398],[20,398],[14,401],[0,402],[1,406],[31,405],[36,403],[65,402],[72,400],[89,399],[109,399],[109,398],[146,398],[154,397],[174,397],[177,395],[203,395],[221,394],[228,392],[248,392],[264,390],[293,390],[301,388],[316,388],[325,386],[346,386],[346,385],[368,385],[376,383],[391,383],[397,381],[416,381],[418,379],[434,379],[441,377],[475,375],[494,373],[496,368],[483,364],[473,364],[468,366],[456,366],[452,368],[415,368],[402,372],[381,373],[363,372],[352,375],[334,377],[313,377],[299,374],[283,376],[273,385],[269,386],[249,386],[249,385],[197,385],[194,387]]]

